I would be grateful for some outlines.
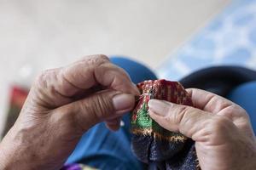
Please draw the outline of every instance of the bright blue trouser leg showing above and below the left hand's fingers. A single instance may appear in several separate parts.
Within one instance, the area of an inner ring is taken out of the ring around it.
[[[156,79],[153,71],[131,59],[113,57],[111,62],[127,71],[134,83]],[[125,115],[122,121],[125,126],[117,132],[109,131],[102,122],[84,133],[67,163],[78,162],[111,170],[143,169],[144,164],[131,152],[130,117]]]

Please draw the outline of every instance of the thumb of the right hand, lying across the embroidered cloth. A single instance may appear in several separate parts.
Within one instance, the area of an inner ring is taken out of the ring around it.
[[[227,126],[234,126],[224,116],[213,115],[187,105],[177,105],[167,101],[150,99],[149,116],[161,127],[183,135],[195,141],[205,140],[207,133],[220,133]]]

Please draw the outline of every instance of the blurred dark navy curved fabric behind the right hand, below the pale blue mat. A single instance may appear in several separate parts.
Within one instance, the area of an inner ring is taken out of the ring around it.
[[[184,88],[201,88],[226,96],[236,86],[256,80],[256,71],[240,66],[213,66],[195,71],[179,80]]]

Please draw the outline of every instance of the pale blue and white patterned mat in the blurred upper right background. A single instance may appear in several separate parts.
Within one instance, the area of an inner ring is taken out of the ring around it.
[[[233,1],[166,59],[157,74],[179,80],[212,65],[243,65],[256,70],[256,0]]]

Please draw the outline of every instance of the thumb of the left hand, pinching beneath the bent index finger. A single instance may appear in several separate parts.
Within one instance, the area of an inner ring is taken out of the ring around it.
[[[59,109],[64,111],[67,117],[71,117],[69,119],[72,123],[79,125],[78,127],[81,127],[80,130],[84,133],[98,122],[107,121],[107,125],[108,122],[111,124],[108,127],[113,127],[112,120],[118,120],[125,112],[131,111],[134,105],[134,95],[104,90]]]

